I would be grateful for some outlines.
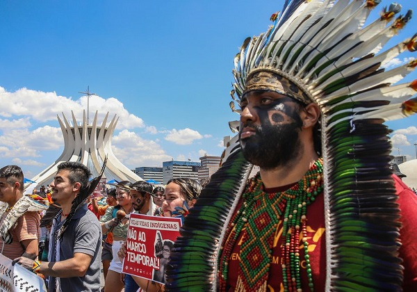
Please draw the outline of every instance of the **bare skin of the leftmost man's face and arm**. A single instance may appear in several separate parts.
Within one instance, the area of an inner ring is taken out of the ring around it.
[[[14,206],[23,193],[21,190],[22,186],[19,181],[15,181],[13,184],[9,184],[5,177],[0,178],[0,201],[8,203],[8,206]],[[22,257],[29,259],[36,259],[38,257],[38,240],[37,239],[26,239],[20,241],[24,249]]]

